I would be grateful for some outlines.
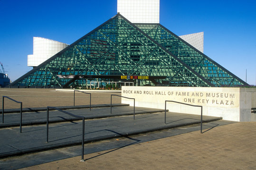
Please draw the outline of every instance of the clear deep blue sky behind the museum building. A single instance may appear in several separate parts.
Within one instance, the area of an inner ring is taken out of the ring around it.
[[[71,44],[117,13],[117,0],[0,0],[0,62],[11,81],[31,70],[33,36]],[[204,53],[256,85],[256,0],[160,0],[174,34],[204,32]]]

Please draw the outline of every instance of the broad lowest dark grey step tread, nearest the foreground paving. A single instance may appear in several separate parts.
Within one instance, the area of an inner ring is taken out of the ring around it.
[[[116,107],[113,110],[113,114],[131,112],[131,110],[133,110],[131,106]],[[136,108],[135,110],[147,111],[143,110],[143,108]],[[104,112],[104,108],[98,108],[95,111]],[[74,110],[74,114],[76,112],[79,112],[79,110]],[[222,118],[203,116],[203,122],[220,119]],[[166,122],[164,124],[164,112],[136,114],[135,119],[133,119],[133,116],[88,119],[85,120],[84,141],[85,143],[91,143],[115,137],[199,124],[200,115],[167,112]],[[46,125],[24,126],[22,127],[22,133],[19,133],[19,127],[1,128],[0,158],[79,145],[82,139],[81,128],[81,121],[50,124],[48,143],[46,143]]]

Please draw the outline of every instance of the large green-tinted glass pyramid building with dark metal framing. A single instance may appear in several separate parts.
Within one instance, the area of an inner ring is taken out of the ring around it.
[[[87,81],[137,85],[247,85],[161,24],[133,24],[117,14],[10,84],[62,88]]]

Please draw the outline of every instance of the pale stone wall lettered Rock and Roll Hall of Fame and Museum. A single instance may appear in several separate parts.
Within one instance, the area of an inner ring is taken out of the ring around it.
[[[203,106],[203,115],[232,121],[256,121],[256,88],[123,86],[122,96],[135,98],[135,106],[164,109],[165,101]],[[133,106],[133,100],[122,98]],[[171,112],[200,114],[199,107],[167,102]]]

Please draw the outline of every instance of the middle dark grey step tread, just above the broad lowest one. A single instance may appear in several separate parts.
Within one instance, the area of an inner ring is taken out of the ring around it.
[[[127,104],[112,104],[112,113],[111,113],[110,105],[108,104],[92,105],[91,110],[89,110],[88,107],[84,107],[84,106],[77,106],[75,108],[74,107],[72,108],[57,107],[57,108],[58,109],[69,108],[69,110],[66,110],[67,112],[77,116],[83,116],[85,117],[85,119],[102,119],[102,118],[116,117],[116,116],[129,116],[134,114],[133,107],[130,107],[129,105],[127,106]],[[37,108],[32,108],[32,110],[37,110]],[[62,113],[57,110],[53,110],[53,109],[50,109],[50,110],[51,111],[49,111],[49,123],[81,120],[79,118],[68,116],[65,113]],[[164,111],[165,110],[163,109],[136,107],[135,115],[164,112]],[[25,112],[22,114],[22,126],[46,124],[46,122],[47,122],[47,112],[45,110],[44,111],[37,110],[36,112],[32,112],[32,111]],[[17,127],[17,126],[20,126],[19,113],[5,114],[4,123],[0,124],[0,128]]]

